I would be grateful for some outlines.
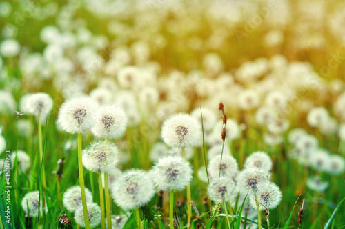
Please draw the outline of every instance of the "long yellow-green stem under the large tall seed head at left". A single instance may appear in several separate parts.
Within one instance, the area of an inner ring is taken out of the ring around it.
[[[85,228],[90,229],[90,221],[88,219],[88,206],[86,206],[85,183],[83,175],[83,159],[81,157],[81,134],[78,134],[78,168],[79,168],[79,182],[81,192],[81,202],[83,203],[83,215],[85,221]]]

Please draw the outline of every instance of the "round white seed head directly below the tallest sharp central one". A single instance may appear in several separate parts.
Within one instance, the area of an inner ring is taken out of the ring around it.
[[[153,168],[152,178],[159,190],[184,190],[192,179],[193,169],[188,161],[179,156],[159,159]]]

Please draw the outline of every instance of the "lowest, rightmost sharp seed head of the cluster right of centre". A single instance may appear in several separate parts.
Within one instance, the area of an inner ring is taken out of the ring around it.
[[[280,201],[282,201],[282,192],[275,183],[267,183],[262,191],[257,193],[259,210],[273,209],[279,205]],[[250,197],[249,203],[252,208],[256,208],[253,197]]]

